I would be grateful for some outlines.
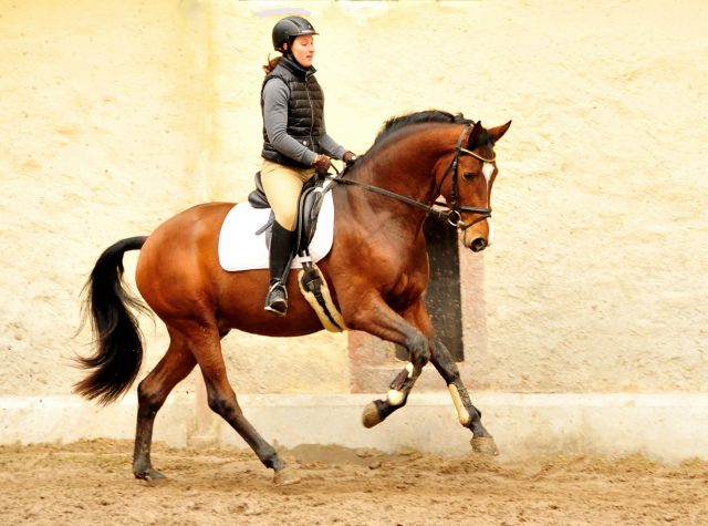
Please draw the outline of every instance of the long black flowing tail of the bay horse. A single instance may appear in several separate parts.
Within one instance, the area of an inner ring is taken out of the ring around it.
[[[96,261],[82,290],[82,323],[91,319],[95,352],[76,357],[81,369],[92,370],[74,385],[74,392],[106,405],[123,395],[133,384],[143,363],[143,333],[136,316],[149,314],[147,306],[123,287],[123,255],[139,250],[146,236],[123,239],[108,247]],[[81,330],[81,329],[80,329]]]

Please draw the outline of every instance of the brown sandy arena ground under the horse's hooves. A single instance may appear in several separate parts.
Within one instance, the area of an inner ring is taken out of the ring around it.
[[[250,452],[154,447],[170,481],[131,473],[132,443],[0,447],[2,525],[708,525],[708,463],[665,467],[545,457],[301,446],[283,451],[303,482],[274,487]]]

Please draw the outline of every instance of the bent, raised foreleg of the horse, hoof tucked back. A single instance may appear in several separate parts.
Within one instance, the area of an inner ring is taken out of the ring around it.
[[[423,299],[410,306],[400,317],[381,298],[376,298],[372,309],[361,309],[360,312],[362,314],[354,324],[357,330],[404,345],[410,360],[391,383],[386,400],[375,400],[364,409],[364,426],[373,427],[406,404],[410,390],[430,359],[427,334],[421,332],[428,332],[428,326],[424,322],[427,313]]]

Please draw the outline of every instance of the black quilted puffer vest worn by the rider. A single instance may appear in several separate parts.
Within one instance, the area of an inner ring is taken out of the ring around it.
[[[290,60],[283,58],[273,68],[261,86],[261,114],[263,113],[263,87],[271,79],[281,79],[290,90],[288,101],[288,135],[314,153],[323,153],[321,146],[322,115],[324,115],[324,93],[314,78],[314,68],[302,70]],[[266,118],[263,118],[263,151],[264,159],[284,166],[309,168],[310,166],[281,154],[268,140]]]

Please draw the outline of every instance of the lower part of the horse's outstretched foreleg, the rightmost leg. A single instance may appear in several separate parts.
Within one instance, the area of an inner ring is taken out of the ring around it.
[[[498,455],[494,439],[482,425],[481,411],[472,405],[455,360],[435,331],[430,333],[430,362],[447,383],[460,424],[472,432],[472,448],[487,456]]]

